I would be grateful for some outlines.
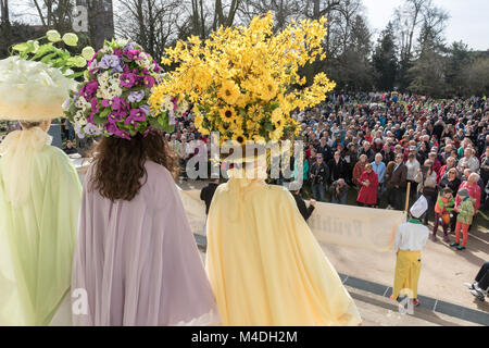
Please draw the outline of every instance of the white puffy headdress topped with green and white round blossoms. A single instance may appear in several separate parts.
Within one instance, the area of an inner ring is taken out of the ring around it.
[[[61,104],[68,91],[76,89],[74,78],[80,74],[73,69],[86,66],[85,57],[93,52],[86,47],[82,55],[72,55],[66,49],[77,46],[76,34],[61,37],[57,30],[12,46],[12,57],[0,61],[0,119],[41,121],[62,116]]]

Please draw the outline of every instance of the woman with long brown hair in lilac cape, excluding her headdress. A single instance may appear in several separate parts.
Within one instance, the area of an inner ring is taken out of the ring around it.
[[[158,133],[98,145],[84,183],[75,325],[221,324],[174,167]]]

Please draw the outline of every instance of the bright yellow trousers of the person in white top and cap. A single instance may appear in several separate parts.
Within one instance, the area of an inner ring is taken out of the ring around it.
[[[417,298],[417,282],[421,273],[421,250],[399,250],[396,262],[393,298],[400,294],[410,298]]]

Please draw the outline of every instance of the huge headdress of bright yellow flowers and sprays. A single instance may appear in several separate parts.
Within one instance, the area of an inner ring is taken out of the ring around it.
[[[249,27],[222,27],[203,42],[197,37],[178,41],[162,61],[177,67],[153,90],[150,104],[158,110],[167,95],[187,98],[195,103],[198,129],[220,132],[221,142],[297,134],[299,124],[290,112],[319,103],[335,87],[319,73],[304,88],[306,80],[299,75],[306,63],[325,58],[324,24],[324,18],[292,22],[274,35],[268,13]]]

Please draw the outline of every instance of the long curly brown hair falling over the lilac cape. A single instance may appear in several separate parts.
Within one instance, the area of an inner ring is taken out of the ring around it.
[[[163,165],[174,177],[178,174],[177,161],[159,132],[146,137],[138,134],[130,140],[103,137],[96,145],[92,159],[95,172],[90,189],[97,189],[111,201],[130,201],[136,197],[147,181],[146,161]]]

